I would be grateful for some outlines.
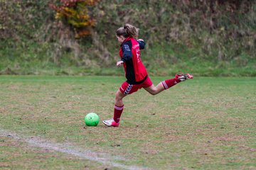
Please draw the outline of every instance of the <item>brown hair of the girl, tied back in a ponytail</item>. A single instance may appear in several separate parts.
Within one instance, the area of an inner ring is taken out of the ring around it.
[[[138,35],[139,35],[139,29],[132,26],[129,23],[126,23],[124,25],[124,27],[118,28],[116,31],[117,36],[121,36],[123,35],[124,38],[127,38],[129,36],[131,36],[132,38],[134,38],[135,40],[138,39]]]

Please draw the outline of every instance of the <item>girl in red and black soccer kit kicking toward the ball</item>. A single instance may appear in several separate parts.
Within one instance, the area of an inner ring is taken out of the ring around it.
[[[119,126],[119,120],[124,110],[122,98],[128,94],[144,88],[149,94],[156,95],[181,81],[193,79],[191,74],[176,74],[174,79],[161,81],[157,86],[154,86],[140,58],[139,50],[144,49],[146,43],[142,39],[137,39],[138,29],[127,23],[124,27],[117,29],[116,35],[121,44],[119,49],[121,60],[117,62],[117,67],[124,66],[127,81],[124,81],[115,96],[114,117],[110,120],[103,120],[105,125],[114,127]]]

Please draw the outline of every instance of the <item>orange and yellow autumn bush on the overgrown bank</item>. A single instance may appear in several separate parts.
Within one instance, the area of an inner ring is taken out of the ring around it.
[[[56,11],[55,19],[72,26],[75,38],[90,35],[88,27],[95,26],[95,19],[90,16],[90,6],[95,6],[97,0],[60,0],[60,6],[49,4]]]

